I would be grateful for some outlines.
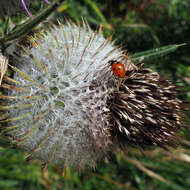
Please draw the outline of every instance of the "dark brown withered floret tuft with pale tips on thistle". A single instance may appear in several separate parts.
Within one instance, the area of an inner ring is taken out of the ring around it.
[[[110,99],[112,133],[124,143],[141,147],[175,146],[176,132],[182,125],[177,88],[151,69],[139,68],[126,75],[120,91]]]

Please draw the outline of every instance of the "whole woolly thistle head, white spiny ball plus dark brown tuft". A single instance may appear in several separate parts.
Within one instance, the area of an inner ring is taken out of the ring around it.
[[[133,67],[101,30],[68,23],[30,41],[24,52],[20,44],[9,49],[14,74],[4,77],[0,96],[1,129],[27,158],[81,168],[123,139],[170,145],[181,115],[175,87]],[[110,60],[126,69],[119,89]]]

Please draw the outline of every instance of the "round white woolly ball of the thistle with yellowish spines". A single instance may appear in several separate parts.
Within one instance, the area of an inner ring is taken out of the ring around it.
[[[92,165],[112,146],[107,99],[117,80],[108,61],[123,52],[86,24],[60,24],[42,36],[22,56],[13,52],[14,76],[5,77],[0,97],[4,132],[28,158]]]

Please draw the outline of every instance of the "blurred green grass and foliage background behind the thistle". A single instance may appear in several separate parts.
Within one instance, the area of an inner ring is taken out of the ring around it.
[[[44,3],[34,1],[31,12],[40,11]],[[27,15],[13,18],[12,24]],[[68,0],[57,9],[51,19],[88,21],[93,29],[104,27],[105,36],[113,35],[117,45],[130,54],[169,44],[182,44],[177,51],[150,60],[145,67],[169,78],[184,93],[179,98],[190,101],[190,1],[189,0]],[[0,20],[0,32],[5,22]],[[186,112],[187,119],[190,113]],[[135,147],[127,147],[126,154],[97,164],[96,170],[65,171],[50,165],[43,170],[38,161],[27,162],[24,153],[10,148],[0,138],[0,190],[188,190],[190,189],[190,133],[187,122],[180,133],[186,140],[178,150],[160,148],[142,154]]]

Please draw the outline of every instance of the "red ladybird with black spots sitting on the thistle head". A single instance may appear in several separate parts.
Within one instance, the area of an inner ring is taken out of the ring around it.
[[[122,62],[116,61],[116,60],[111,60],[109,61],[112,67],[112,71],[115,76],[118,76],[119,78],[124,78],[125,77],[125,66],[123,65]]]

